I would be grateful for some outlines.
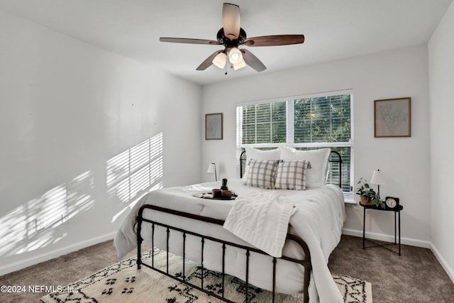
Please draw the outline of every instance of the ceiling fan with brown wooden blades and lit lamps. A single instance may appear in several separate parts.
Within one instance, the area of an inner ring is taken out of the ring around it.
[[[224,3],[222,9],[222,25],[218,31],[217,40],[204,40],[192,38],[160,38],[161,42],[223,45],[223,50],[216,50],[206,58],[196,70],[206,70],[211,64],[224,68],[227,62],[231,63],[234,70],[249,65],[254,70],[262,72],[267,67],[249,50],[239,49],[238,46],[275,46],[304,43],[304,35],[263,35],[260,37],[246,38],[246,32],[240,27],[240,6]],[[227,74],[227,72],[226,72]]]

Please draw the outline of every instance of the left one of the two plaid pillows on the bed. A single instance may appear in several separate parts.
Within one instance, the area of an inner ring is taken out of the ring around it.
[[[250,159],[246,185],[267,189],[273,188],[275,186],[277,163],[279,163],[279,160]]]

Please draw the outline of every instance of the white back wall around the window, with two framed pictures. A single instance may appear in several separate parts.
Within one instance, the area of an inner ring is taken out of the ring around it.
[[[263,60],[266,64],[266,58]],[[355,180],[359,177],[370,180],[373,170],[382,170],[387,182],[380,187],[382,196],[400,197],[404,205],[404,243],[428,247],[431,208],[426,45],[204,86],[202,113],[223,112],[224,139],[202,142],[202,167],[216,162],[221,177],[236,176],[238,102],[341,89],[353,89],[354,94]],[[411,97],[411,138],[374,138],[374,100],[394,97]],[[204,171],[201,177],[211,180]],[[347,214],[345,232],[362,236],[362,209],[348,207]],[[372,236],[390,238],[392,235],[394,240],[392,213],[375,211],[368,216],[367,230],[377,233]]]

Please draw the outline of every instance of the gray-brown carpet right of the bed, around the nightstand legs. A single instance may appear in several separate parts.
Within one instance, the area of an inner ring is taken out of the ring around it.
[[[397,245],[387,247],[398,251]],[[328,266],[371,282],[374,303],[454,302],[454,283],[426,248],[402,246],[399,257],[382,247],[362,250],[362,238],[342,236]]]

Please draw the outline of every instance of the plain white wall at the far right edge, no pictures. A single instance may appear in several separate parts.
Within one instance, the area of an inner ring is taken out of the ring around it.
[[[431,91],[432,243],[454,281],[454,3],[428,43]]]

